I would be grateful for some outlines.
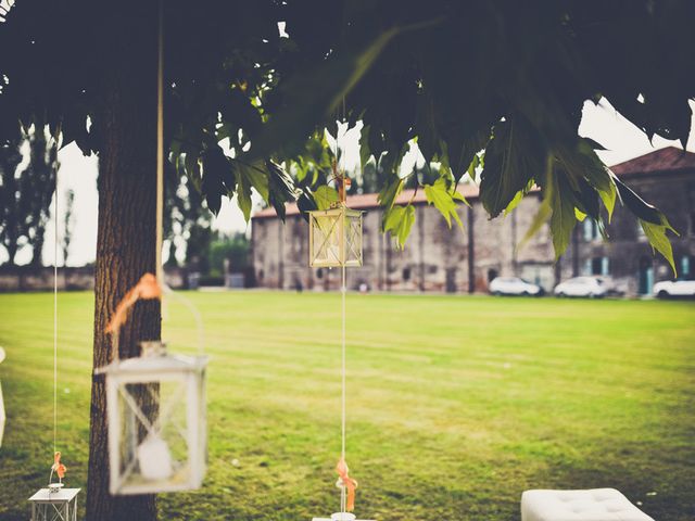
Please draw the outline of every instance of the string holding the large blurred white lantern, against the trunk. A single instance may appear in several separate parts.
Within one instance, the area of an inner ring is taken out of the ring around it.
[[[164,288],[162,266],[163,215],[164,215],[164,1],[160,0],[157,78],[156,78],[156,281]]]

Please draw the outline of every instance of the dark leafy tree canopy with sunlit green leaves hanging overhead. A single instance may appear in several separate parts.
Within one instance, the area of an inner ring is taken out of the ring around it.
[[[99,105],[109,66],[100,34],[123,21],[100,18],[86,0],[59,3],[17,1],[0,25],[0,46],[17,49],[0,59],[0,138],[10,139],[17,119],[47,123],[60,126],[64,142],[99,151],[108,139]],[[344,99],[349,124],[364,124],[363,164],[379,165],[384,229],[400,242],[415,219],[407,205],[393,204],[405,183],[421,186],[447,223],[458,223],[456,185],[481,168],[481,200],[492,217],[541,189],[529,231],[549,220],[557,255],[578,219],[603,226],[620,202],[672,264],[665,215],[612,176],[595,153],[601,145],[577,129],[584,101],[606,98],[650,138],[686,142],[695,2],[168,0],[165,7],[170,161],[213,212],[223,195],[237,195],[249,218],[252,189],[280,216],[290,201],[302,209],[326,204],[331,158],[324,129],[334,126]],[[27,66],[56,41],[53,62]],[[415,141],[426,164],[440,166],[400,177]]]

